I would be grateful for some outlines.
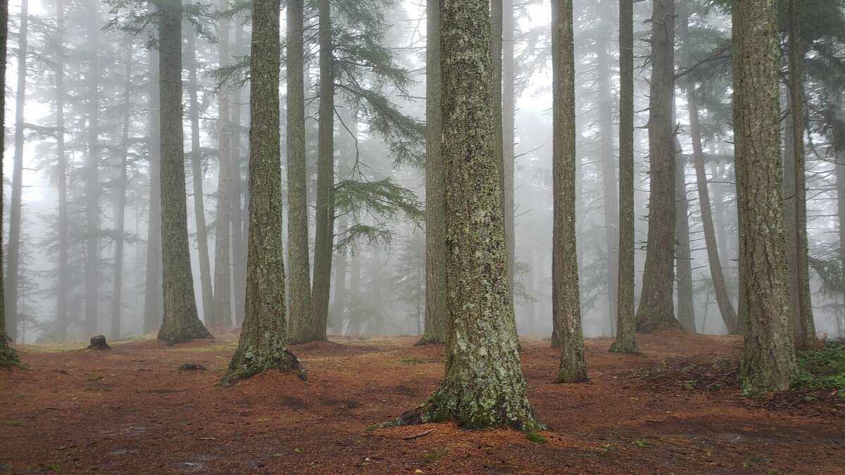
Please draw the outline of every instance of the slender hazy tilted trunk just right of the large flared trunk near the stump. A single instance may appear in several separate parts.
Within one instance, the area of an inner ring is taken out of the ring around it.
[[[202,290],[203,311],[206,321],[214,314],[214,292],[211,287],[211,263],[209,259],[208,228],[205,225],[205,205],[203,192],[203,156],[199,149],[199,100],[197,99],[197,63],[196,40],[188,34],[188,106],[191,116],[191,178],[194,183],[194,219],[197,221],[197,248],[199,251],[199,283]]]

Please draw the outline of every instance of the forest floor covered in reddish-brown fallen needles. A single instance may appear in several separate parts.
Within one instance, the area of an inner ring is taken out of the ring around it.
[[[591,339],[591,380],[577,385],[552,384],[559,352],[523,340],[528,394],[551,428],[532,441],[449,423],[372,429],[435,389],[442,346],[415,347],[414,337],[296,345],[306,381],[268,373],[225,388],[217,383],[237,335],[217,335],[174,347],[118,341],[111,351],[19,346],[29,369],[0,370],[0,472],[845,472],[845,400],[744,398],[721,363],[692,377],[689,363],[679,366],[738,356],[733,336],[640,336],[639,356]]]

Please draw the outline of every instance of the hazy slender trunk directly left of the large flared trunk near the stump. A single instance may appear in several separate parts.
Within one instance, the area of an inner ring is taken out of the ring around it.
[[[150,223],[147,227],[147,255],[144,276],[144,333],[161,325],[164,303],[161,286],[161,120],[159,106],[159,54],[150,50]]]

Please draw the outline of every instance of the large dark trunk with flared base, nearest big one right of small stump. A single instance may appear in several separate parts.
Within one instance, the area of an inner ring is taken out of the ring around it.
[[[197,316],[188,244],[182,108],[182,5],[159,6],[159,89],[161,103],[161,248],[164,318],[158,339],[183,343],[210,338]]]

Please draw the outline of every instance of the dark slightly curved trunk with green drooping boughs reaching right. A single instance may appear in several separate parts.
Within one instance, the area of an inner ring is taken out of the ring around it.
[[[314,231],[312,321],[299,341],[325,340],[329,319],[331,255],[335,222],[335,74],[332,57],[331,5],[319,0],[319,130],[317,212]]]

